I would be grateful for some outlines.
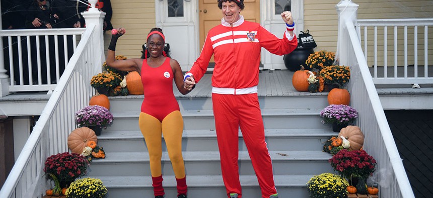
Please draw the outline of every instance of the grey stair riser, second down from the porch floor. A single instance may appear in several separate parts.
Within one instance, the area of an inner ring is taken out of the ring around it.
[[[318,115],[282,115],[263,116],[263,124],[266,129],[296,129],[317,128],[329,129],[329,125],[321,123],[322,118]],[[185,130],[209,129],[215,130],[213,116],[183,117]],[[109,131],[138,131],[138,117],[114,118],[113,125],[107,128]]]

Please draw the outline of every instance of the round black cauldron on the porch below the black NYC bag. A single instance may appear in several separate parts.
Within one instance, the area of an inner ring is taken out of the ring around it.
[[[300,70],[301,65],[304,65],[305,69],[310,70],[310,68],[305,65],[305,61],[308,59],[308,56],[313,53],[313,48],[298,47],[292,53],[284,55],[282,59],[284,60],[285,67],[290,71]]]

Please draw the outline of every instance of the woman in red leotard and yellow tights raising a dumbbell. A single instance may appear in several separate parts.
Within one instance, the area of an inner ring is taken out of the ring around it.
[[[186,198],[185,165],[182,157],[183,119],[173,93],[173,80],[182,94],[187,94],[192,88],[184,86],[179,63],[166,56],[165,37],[160,28],[153,28],[148,34],[147,51],[150,57],[146,56],[145,59],[115,60],[117,39],[125,33],[123,28],[117,28],[116,31],[117,34],[112,35],[108,46],[106,62],[112,68],[137,71],[141,75],[145,98],[141,104],[138,124],[149,151],[155,198],[162,198],[165,194],[161,171],[161,133],[175,173],[178,198]]]

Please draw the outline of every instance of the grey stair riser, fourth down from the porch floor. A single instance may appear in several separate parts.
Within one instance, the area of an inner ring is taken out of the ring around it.
[[[273,173],[277,174],[311,174],[317,175],[324,172],[332,172],[327,160],[274,160],[272,161]],[[87,176],[150,176],[149,161],[125,162],[125,163],[96,163],[89,167]],[[162,162],[163,175],[174,175],[172,164],[168,157]],[[220,161],[185,161],[187,175],[221,175]],[[239,161],[239,173],[254,175],[254,169],[250,160]]]

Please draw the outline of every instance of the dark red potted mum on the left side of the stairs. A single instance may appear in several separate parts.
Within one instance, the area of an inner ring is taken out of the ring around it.
[[[89,162],[84,156],[77,153],[58,153],[49,156],[45,160],[44,172],[47,179],[60,185],[60,188],[66,187],[75,179],[82,177],[87,172]]]

